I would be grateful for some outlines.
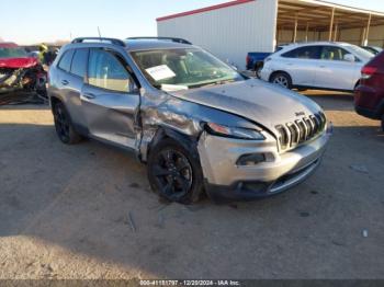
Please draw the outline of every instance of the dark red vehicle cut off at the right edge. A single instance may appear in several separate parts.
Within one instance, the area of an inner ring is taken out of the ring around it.
[[[381,119],[384,131],[384,51],[361,70],[360,84],[354,91],[354,106],[359,115]]]

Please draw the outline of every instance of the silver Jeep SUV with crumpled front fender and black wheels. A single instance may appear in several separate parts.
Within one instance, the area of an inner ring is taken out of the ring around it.
[[[49,70],[56,131],[132,150],[154,191],[255,199],[306,179],[329,139],[321,108],[180,38],[77,38]]]

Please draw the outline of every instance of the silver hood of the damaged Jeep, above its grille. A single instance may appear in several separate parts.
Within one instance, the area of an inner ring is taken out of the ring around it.
[[[306,96],[256,79],[170,94],[249,118],[273,133],[276,125],[321,111]]]

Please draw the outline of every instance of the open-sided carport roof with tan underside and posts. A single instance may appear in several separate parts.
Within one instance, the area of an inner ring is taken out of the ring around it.
[[[292,42],[297,32],[327,33],[328,41],[337,41],[343,30],[361,28],[361,45],[366,45],[370,27],[384,25],[384,13],[335,4],[319,0],[279,0],[278,31],[293,31]],[[278,36],[279,42],[279,36]]]

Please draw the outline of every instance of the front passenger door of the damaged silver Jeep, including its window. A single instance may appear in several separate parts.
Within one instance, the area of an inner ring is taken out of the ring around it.
[[[90,135],[134,149],[139,101],[137,83],[124,58],[111,50],[90,49],[88,81],[81,94]]]

